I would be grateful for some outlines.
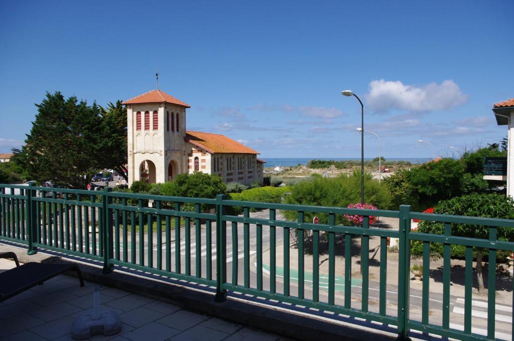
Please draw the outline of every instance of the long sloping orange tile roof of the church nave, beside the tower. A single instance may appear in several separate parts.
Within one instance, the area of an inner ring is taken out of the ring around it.
[[[207,150],[209,153],[243,153],[243,154],[259,154],[237,141],[234,141],[225,135],[211,134],[210,132],[186,131],[185,140],[191,142],[197,147]]]

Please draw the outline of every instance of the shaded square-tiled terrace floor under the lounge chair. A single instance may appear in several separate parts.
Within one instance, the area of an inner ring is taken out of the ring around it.
[[[13,267],[13,261],[0,259],[0,272]],[[81,288],[77,278],[60,275],[0,303],[0,339],[71,340],[75,318],[92,313],[94,287],[95,283],[86,281]],[[117,335],[94,336],[94,341],[286,340],[149,297],[108,287],[100,289],[100,310],[117,312],[122,328]]]

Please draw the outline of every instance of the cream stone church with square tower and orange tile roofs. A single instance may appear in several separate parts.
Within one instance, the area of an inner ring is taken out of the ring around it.
[[[186,130],[191,106],[161,90],[123,102],[127,108],[128,185],[173,180],[180,173],[219,175],[225,182],[263,181],[257,151],[224,135]]]

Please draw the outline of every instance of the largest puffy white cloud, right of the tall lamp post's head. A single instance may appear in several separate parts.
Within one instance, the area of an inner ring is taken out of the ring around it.
[[[452,80],[440,85],[430,83],[419,87],[400,81],[372,81],[367,95],[368,105],[374,111],[403,109],[410,111],[447,110],[466,103],[468,95],[462,93]]]

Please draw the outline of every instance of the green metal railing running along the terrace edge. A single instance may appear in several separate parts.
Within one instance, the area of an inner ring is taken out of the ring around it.
[[[231,215],[233,207],[243,207],[243,214]],[[251,217],[251,210],[268,210],[269,216]],[[296,221],[277,219],[281,211],[295,212]],[[487,275],[488,288],[493,289],[487,295],[487,335],[472,332],[473,248],[488,250],[489,269],[496,269],[498,250],[514,251],[514,242],[498,241],[496,233],[500,226],[514,228],[512,220],[415,213],[407,205],[400,206],[399,211],[358,210],[232,201],[224,195],[198,199],[112,192],[111,188],[83,191],[29,184],[0,185],[0,213],[0,239],[26,244],[29,254],[38,249],[53,250],[101,262],[105,273],[116,265],[192,281],[215,287],[217,301],[233,291],[371,320],[396,326],[402,337],[417,330],[458,339],[494,339],[495,271]],[[327,223],[306,222],[306,213],[326,215]],[[362,226],[337,224],[345,214],[363,216]],[[370,216],[398,219],[399,230],[370,226]],[[411,219],[442,222],[444,234],[413,233]],[[452,236],[454,223],[488,226],[489,239]],[[296,251],[290,245],[291,230],[298,235]],[[320,234],[327,236],[326,244]],[[370,239],[378,241],[378,278],[370,274],[370,257],[363,257],[360,285],[352,279],[352,271],[357,270],[352,269],[354,237],[361,239],[364,250],[369,250]],[[394,277],[388,276],[389,238],[398,239],[398,271]],[[420,318],[409,310],[410,244],[415,240],[423,243],[422,294],[420,307],[415,307],[421,312]],[[433,294],[431,243],[443,244],[440,324],[431,318],[429,302]],[[466,249],[463,330],[450,324],[451,245]],[[328,262],[326,275],[320,273],[321,247],[328,253],[323,260]],[[307,248],[312,254],[311,272],[306,270],[310,264],[305,256]],[[341,269],[344,278],[336,275],[336,269]],[[397,292],[391,291],[392,286]],[[372,299],[371,291],[377,292]],[[389,304],[390,300],[396,305]]]

